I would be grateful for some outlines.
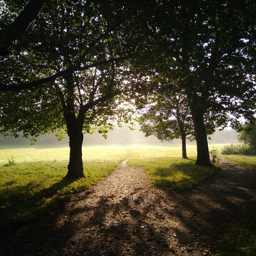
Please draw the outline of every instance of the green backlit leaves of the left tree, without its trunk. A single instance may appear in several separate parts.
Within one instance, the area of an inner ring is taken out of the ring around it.
[[[13,54],[6,60],[3,59],[2,82],[20,83],[41,79],[51,76],[54,72],[78,66],[81,71],[65,74],[56,79],[54,84],[47,84],[37,90],[18,95],[1,95],[6,102],[1,106],[1,119],[11,115],[7,124],[3,121],[3,131],[8,130],[14,134],[24,131],[27,135],[63,129],[63,114],[68,111],[75,112],[76,117],[81,112],[81,115],[85,115],[86,132],[92,131],[90,126],[94,129],[102,125],[99,129],[102,134],[111,129],[105,116],[110,115],[118,106],[119,100],[115,102],[109,99],[120,89],[116,88],[116,84],[122,86],[120,72],[123,71],[117,63],[113,65],[106,60],[118,57],[122,51],[125,54],[127,49],[122,48],[120,41],[116,40],[118,33],[121,33],[113,30],[117,20],[103,17],[103,14],[108,13],[107,10],[103,13],[101,8],[100,3],[91,1],[55,1],[43,6],[42,13],[28,29],[26,39],[23,38],[22,44],[14,45]],[[76,15],[72,15],[73,12]],[[116,16],[116,19],[119,19],[118,15]],[[122,40],[124,42],[125,38]],[[26,51],[19,52],[23,44],[26,45]],[[102,64],[97,67],[99,62]],[[81,68],[84,66],[90,67]],[[102,96],[104,99],[100,100]],[[106,100],[108,108],[104,106]],[[19,117],[15,116],[15,108],[8,104],[10,101],[19,109]],[[26,108],[22,108],[24,106]],[[15,127],[14,121],[18,118],[19,122]]]

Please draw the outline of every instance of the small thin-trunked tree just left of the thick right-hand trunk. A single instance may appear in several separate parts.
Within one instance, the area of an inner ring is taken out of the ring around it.
[[[182,93],[173,97],[160,96],[148,105],[140,116],[140,125],[145,136],[154,135],[162,141],[181,138],[182,158],[188,158],[186,139],[194,140],[195,137],[186,97]]]

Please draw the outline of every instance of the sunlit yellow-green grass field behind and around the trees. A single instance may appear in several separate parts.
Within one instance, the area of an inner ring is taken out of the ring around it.
[[[194,166],[196,147],[188,146],[189,160],[180,159],[180,147],[84,147],[85,177],[63,179],[67,173],[68,147],[0,148],[0,227],[32,220],[49,212],[79,191],[88,189],[129,157],[129,164],[143,166],[153,186],[186,189],[211,175]]]

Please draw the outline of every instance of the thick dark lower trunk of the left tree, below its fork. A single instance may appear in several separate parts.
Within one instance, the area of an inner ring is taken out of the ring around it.
[[[80,179],[84,177],[82,160],[83,132],[81,129],[72,129],[72,131],[68,131],[68,136],[70,157],[66,178]]]

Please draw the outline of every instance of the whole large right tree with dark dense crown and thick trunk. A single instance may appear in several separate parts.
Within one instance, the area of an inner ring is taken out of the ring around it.
[[[184,91],[195,128],[196,164],[211,164],[205,113],[214,113],[217,127],[255,113],[255,10],[252,1],[241,8],[237,1],[195,0],[188,5],[163,0],[148,21],[147,44],[154,61],[147,67],[173,81],[170,89],[175,84],[173,90],[178,86]]]

